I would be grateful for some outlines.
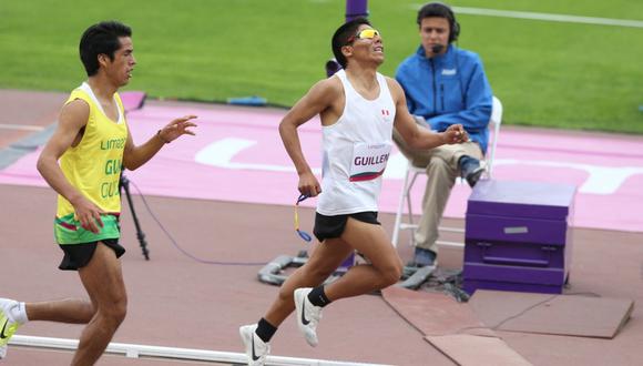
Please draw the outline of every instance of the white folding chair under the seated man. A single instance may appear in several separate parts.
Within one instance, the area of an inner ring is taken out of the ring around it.
[[[493,159],[496,157],[496,146],[498,144],[498,136],[500,134],[500,124],[502,123],[502,103],[496,96],[493,96],[493,103],[491,108],[491,119],[489,120],[489,130],[493,130],[493,133],[489,138],[489,153],[487,154],[486,159],[481,162],[484,167],[484,175],[490,179],[491,171],[493,169]],[[414,223],[414,211],[411,206],[411,197],[410,192],[416,183],[418,175],[426,174],[427,167],[426,166],[415,166],[411,161],[407,164],[407,170],[405,174],[405,181],[402,184],[402,190],[399,197],[399,204],[397,207],[396,216],[395,216],[395,227],[392,230],[392,244],[397,247],[397,243],[399,240],[400,230],[411,230],[410,236],[410,244],[414,243],[414,235],[415,231],[418,228],[418,224]],[[429,176],[427,179],[430,179]],[[404,212],[405,205],[407,211]],[[406,218],[404,218],[406,216]],[[402,221],[406,220],[406,221]],[[463,233],[463,228],[458,227],[439,227],[440,231],[443,232],[452,232],[452,233]],[[448,245],[448,246],[463,246],[462,243],[452,243],[452,242],[437,242],[440,245]]]

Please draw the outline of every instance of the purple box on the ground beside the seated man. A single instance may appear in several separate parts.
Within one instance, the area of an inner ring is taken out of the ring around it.
[[[467,204],[463,287],[562,293],[575,186],[480,181]]]

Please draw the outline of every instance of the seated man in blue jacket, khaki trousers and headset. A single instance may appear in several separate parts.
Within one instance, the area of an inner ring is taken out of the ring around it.
[[[400,151],[416,166],[427,166],[429,176],[422,201],[422,217],[415,234],[414,264],[433,264],[438,248],[438,225],[456,182],[462,176],[470,186],[482,174],[480,160],[487,151],[492,93],[478,54],[458,49],[460,33],[453,11],[441,2],[423,6],[417,19],[421,45],[398,68],[409,112],[423,118],[427,128],[445,131],[460,123],[469,141],[428,151],[409,149],[396,133]]]

